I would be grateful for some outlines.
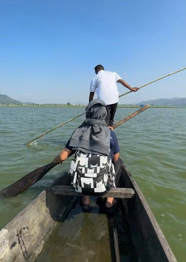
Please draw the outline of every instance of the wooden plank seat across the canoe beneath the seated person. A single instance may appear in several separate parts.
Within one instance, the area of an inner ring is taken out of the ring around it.
[[[72,186],[52,186],[51,192],[53,194],[60,195],[78,195],[82,196],[84,194],[76,192]],[[109,192],[105,193],[101,197],[103,198],[120,198],[120,199],[130,199],[134,197],[135,191],[132,188],[112,188]]]

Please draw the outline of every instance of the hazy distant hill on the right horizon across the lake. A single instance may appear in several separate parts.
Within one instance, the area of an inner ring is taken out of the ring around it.
[[[150,105],[176,105],[176,106],[186,106],[186,98],[161,98],[154,100],[141,101],[137,104],[150,104]]]

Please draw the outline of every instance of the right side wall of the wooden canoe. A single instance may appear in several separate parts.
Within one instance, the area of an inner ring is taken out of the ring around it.
[[[139,261],[176,262],[176,258],[136,181],[123,164],[121,184],[135,191],[122,200]]]

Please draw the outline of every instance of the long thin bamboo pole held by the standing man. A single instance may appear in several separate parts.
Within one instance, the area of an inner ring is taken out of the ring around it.
[[[146,85],[148,85],[148,84],[154,83],[154,82],[156,82],[156,81],[158,81],[158,80],[161,80],[161,79],[163,79],[163,78],[165,78],[165,77],[168,77],[168,76],[171,76],[171,75],[173,75],[173,74],[176,74],[176,73],[178,73],[178,72],[180,72],[180,71],[183,71],[183,70],[185,70],[185,69],[186,69],[186,68],[182,68],[182,69],[180,69],[180,70],[178,70],[178,71],[175,71],[175,72],[173,72],[173,73],[171,73],[171,74],[168,74],[168,75],[166,75],[166,76],[157,78],[157,79],[155,79],[155,80],[153,80],[153,81],[151,81],[151,82],[149,82],[149,83],[147,83],[147,84],[144,84],[144,85],[140,86],[139,89],[144,88],[144,86],[146,86]],[[125,96],[125,95],[127,95],[127,94],[129,94],[129,93],[131,93],[131,92],[133,92],[133,91],[129,91],[129,92],[127,92],[127,93],[124,93],[124,94],[120,95],[119,97]],[[83,116],[83,115],[85,115],[85,113],[83,113],[83,114],[81,114],[81,115],[78,115],[78,116],[76,116],[76,117],[74,117],[74,118],[71,118],[71,119],[67,120],[66,122],[64,122],[64,123],[62,123],[62,124],[60,124],[60,125],[52,128],[52,129],[50,129],[48,132],[42,134],[41,136],[39,136],[39,137],[37,137],[37,138],[29,141],[29,142],[26,143],[25,145],[29,145],[30,143],[32,143],[33,141],[37,140],[38,138],[43,137],[44,135],[46,135],[46,134],[50,133],[51,131],[55,130],[56,128],[58,128],[58,127],[60,127],[60,126],[62,126],[62,125],[64,125],[64,124],[66,124],[66,123],[68,123],[68,122],[70,122],[70,121],[72,121],[72,120],[74,120],[74,119],[76,119],[76,118],[78,118],[78,117],[81,117],[81,116]]]

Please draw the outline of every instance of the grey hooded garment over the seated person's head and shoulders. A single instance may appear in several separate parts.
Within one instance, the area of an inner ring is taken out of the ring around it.
[[[74,130],[69,143],[72,150],[108,156],[110,153],[110,129],[105,118],[107,105],[100,99],[92,100],[86,107],[86,120]]]

